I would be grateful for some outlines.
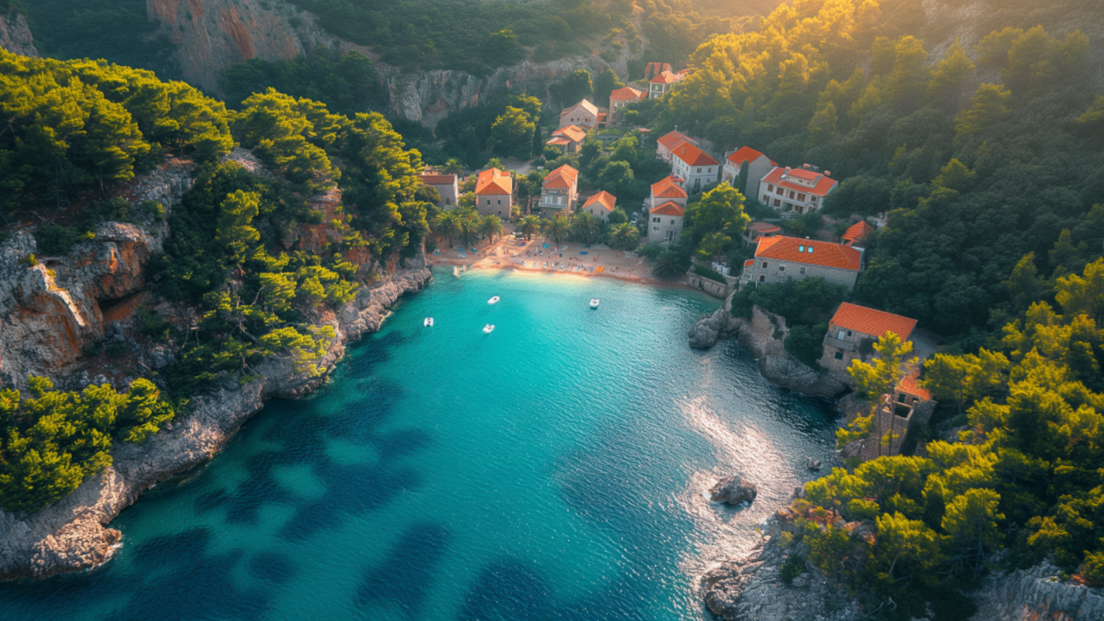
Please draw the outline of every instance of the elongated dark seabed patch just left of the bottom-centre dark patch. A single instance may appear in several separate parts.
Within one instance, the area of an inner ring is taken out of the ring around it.
[[[408,618],[420,617],[437,577],[437,565],[447,551],[448,539],[448,531],[437,524],[410,528],[391,554],[364,573],[357,590],[358,603],[393,602]]]

